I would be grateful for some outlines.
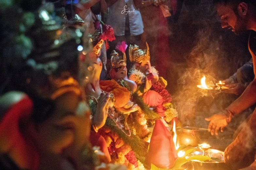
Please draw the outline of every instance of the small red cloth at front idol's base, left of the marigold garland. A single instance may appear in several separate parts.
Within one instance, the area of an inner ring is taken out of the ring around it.
[[[91,131],[90,142],[91,142],[92,146],[100,147],[100,151],[102,151],[105,154],[105,156],[107,157],[107,161],[110,163],[111,158],[110,158],[109,150],[108,150],[107,143],[106,143],[104,137]]]

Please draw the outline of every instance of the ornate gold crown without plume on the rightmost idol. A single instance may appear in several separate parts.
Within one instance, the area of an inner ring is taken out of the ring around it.
[[[149,47],[146,43],[147,49],[141,50],[137,45],[130,45],[129,47],[129,59],[133,63],[141,63],[142,60],[150,60]]]

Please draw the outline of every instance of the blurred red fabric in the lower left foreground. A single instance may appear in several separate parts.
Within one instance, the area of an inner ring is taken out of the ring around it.
[[[26,95],[18,103],[10,107],[0,120],[0,143],[8,144],[9,152],[10,150],[15,150],[14,152],[23,156],[22,159],[26,158],[26,162],[30,163],[29,167],[32,170],[36,170],[39,165],[38,152],[31,142],[30,135],[22,134],[20,130],[21,122],[25,128],[29,128],[26,123],[30,119],[32,108],[33,102]],[[24,130],[24,132],[27,131]]]

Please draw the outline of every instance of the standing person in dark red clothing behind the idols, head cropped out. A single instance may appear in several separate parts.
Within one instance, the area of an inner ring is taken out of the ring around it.
[[[140,12],[151,61],[163,78],[167,78],[170,59],[168,18],[176,14],[177,0],[141,0]],[[161,60],[159,60],[161,58]]]

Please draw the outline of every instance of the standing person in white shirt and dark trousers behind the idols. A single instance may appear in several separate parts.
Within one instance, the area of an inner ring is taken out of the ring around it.
[[[137,44],[144,45],[146,48],[145,40],[142,40],[144,26],[139,10],[141,2],[139,0],[107,0],[106,3],[109,7],[107,24],[113,27],[116,37],[116,40],[110,42],[107,56],[110,56],[117,43],[122,41],[125,41],[128,46]],[[128,57],[128,50],[126,56]],[[127,60],[128,70],[130,65],[130,60]]]

